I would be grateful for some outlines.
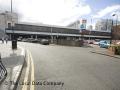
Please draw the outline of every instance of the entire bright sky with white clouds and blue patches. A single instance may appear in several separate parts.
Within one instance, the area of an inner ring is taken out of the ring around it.
[[[13,12],[21,22],[67,26],[81,18],[88,24],[95,20],[120,19],[120,0],[12,0]],[[10,11],[11,0],[0,0],[0,11]]]

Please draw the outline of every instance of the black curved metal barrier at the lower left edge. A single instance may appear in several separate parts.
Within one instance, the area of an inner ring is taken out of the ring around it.
[[[0,83],[6,78],[6,76],[7,76],[7,70],[2,63],[1,53],[0,53]]]

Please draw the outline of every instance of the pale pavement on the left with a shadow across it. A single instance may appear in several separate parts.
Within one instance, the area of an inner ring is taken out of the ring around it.
[[[11,42],[0,42],[0,53],[3,65],[7,70],[7,77],[0,84],[0,90],[15,90],[19,81],[24,61],[25,50],[18,47],[17,50],[11,49]]]

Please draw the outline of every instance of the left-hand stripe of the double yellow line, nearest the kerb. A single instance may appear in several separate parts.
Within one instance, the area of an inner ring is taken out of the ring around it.
[[[28,51],[27,51],[27,53],[28,53]],[[26,72],[25,72],[24,83],[28,81],[29,71],[30,71],[30,55],[28,54],[27,68],[26,68]],[[27,90],[27,85],[23,85],[22,90]]]

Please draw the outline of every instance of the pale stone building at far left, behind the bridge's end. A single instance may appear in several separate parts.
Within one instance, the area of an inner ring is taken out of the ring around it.
[[[18,23],[18,15],[16,13],[11,12],[1,12],[0,13],[0,38],[5,35],[5,29],[8,26],[11,26],[15,23]]]

